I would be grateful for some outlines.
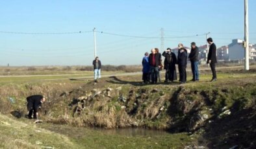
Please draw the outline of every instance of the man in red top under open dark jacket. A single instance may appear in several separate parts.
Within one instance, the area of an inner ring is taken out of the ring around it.
[[[161,62],[161,55],[157,53],[155,49],[152,49],[151,54],[149,54],[151,84],[157,84],[157,77],[159,75],[160,62]]]

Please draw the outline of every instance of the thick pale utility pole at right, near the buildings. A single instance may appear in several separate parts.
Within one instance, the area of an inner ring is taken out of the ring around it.
[[[244,0],[244,70],[249,71],[249,19],[248,0]]]

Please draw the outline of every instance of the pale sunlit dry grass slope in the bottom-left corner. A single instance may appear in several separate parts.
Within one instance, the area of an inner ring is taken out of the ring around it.
[[[64,135],[37,128],[32,122],[21,122],[0,113],[0,148],[71,148],[75,144]]]

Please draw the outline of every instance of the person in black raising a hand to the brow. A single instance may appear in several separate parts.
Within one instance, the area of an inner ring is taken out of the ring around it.
[[[174,52],[170,48],[162,53],[162,56],[165,57],[164,59],[164,69],[166,70],[165,73],[165,82],[168,83],[169,81],[173,82],[173,80],[177,80],[177,73],[176,73],[176,66],[177,58]]]

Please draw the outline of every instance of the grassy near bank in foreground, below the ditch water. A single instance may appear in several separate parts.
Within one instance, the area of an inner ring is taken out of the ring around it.
[[[33,124],[32,120],[17,120],[2,114],[0,132],[0,148],[183,148],[196,139],[186,133],[108,134],[90,128]]]

